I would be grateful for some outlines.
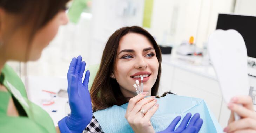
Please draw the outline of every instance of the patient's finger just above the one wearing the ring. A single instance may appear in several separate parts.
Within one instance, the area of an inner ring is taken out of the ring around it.
[[[147,98],[141,99],[137,104],[133,107],[132,111],[130,111],[131,114],[137,114],[141,109],[142,106],[146,105],[147,103],[153,101],[155,99],[155,96],[150,96]],[[147,111],[147,110],[146,110]]]

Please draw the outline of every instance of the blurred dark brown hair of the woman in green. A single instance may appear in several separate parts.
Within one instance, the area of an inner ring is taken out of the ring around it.
[[[60,10],[66,9],[69,0],[0,0],[0,8],[16,17],[10,34],[20,26],[29,24],[29,39],[36,31],[46,25]]]

